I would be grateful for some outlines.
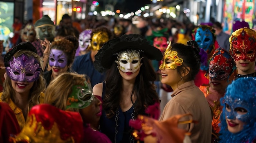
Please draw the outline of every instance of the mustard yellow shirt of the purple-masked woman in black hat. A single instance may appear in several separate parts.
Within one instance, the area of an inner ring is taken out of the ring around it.
[[[2,96],[2,92],[0,93],[0,97]],[[39,98],[39,102],[40,104],[43,103],[44,101],[44,97],[45,97],[45,93],[41,92],[40,93],[40,98]],[[0,102],[2,102],[2,99],[0,98]],[[18,108],[14,102],[12,100],[9,100],[8,102],[9,106],[11,107],[11,109],[13,110],[14,114],[16,115],[16,118],[18,120],[18,124],[20,126],[20,130],[22,130],[22,128],[25,126],[26,124],[26,121],[25,121],[25,118],[23,116],[23,113],[22,113],[22,110],[20,108]],[[29,104],[29,111],[30,109],[32,108],[32,106],[30,106]]]

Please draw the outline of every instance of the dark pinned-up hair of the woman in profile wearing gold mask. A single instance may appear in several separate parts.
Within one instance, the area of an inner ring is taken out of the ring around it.
[[[188,41],[188,45],[174,43],[171,46],[173,51],[177,51],[179,58],[183,59],[182,65],[177,66],[177,72],[182,75],[184,70],[188,70],[189,74],[184,77],[184,82],[194,80],[201,66],[200,48],[196,41]]]

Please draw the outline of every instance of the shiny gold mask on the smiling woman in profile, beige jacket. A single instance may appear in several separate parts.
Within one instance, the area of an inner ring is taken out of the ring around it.
[[[177,51],[172,51],[171,42],[169,42],[163,56],[163,63],[159,66],[159,69],[176,69],[181,66],[183,59],[179,58]]]

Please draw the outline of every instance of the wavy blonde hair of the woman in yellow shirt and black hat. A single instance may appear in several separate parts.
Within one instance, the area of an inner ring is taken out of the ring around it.
[[[38,56],[38,54],[30,50],[20,50],[16,52],[13,56],[17,58],[22,54],[25,54],[27,56],[33,56],[36,59],[36,61],[38,61],[40,67],[42,68],[43,62],[40,56]],[[45,91],[45,88],[46,88],[45,79],[43,78],[43,71],[41,71],[39,78],[34,82],[33,87],[30,89],[29,94],[30,94],[31,100],[29,101],[29,103],[33,105],[40,104],[40,101],[39,101],[40,93]],[[4,80],[3,94],[1,96],[1,99],[3,102],[8,102],[9,99],[13,100],[14,103],[17,102],[15,98],[15,90],[11,85],[11,78],[8,75]]]

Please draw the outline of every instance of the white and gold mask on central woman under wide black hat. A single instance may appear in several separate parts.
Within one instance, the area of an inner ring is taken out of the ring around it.
[[[126,50],[117,54],[117,68],[124,73],[132,72],[135,73],[139,70],[142,63],[140,63],[140,52],[137,50]]]

